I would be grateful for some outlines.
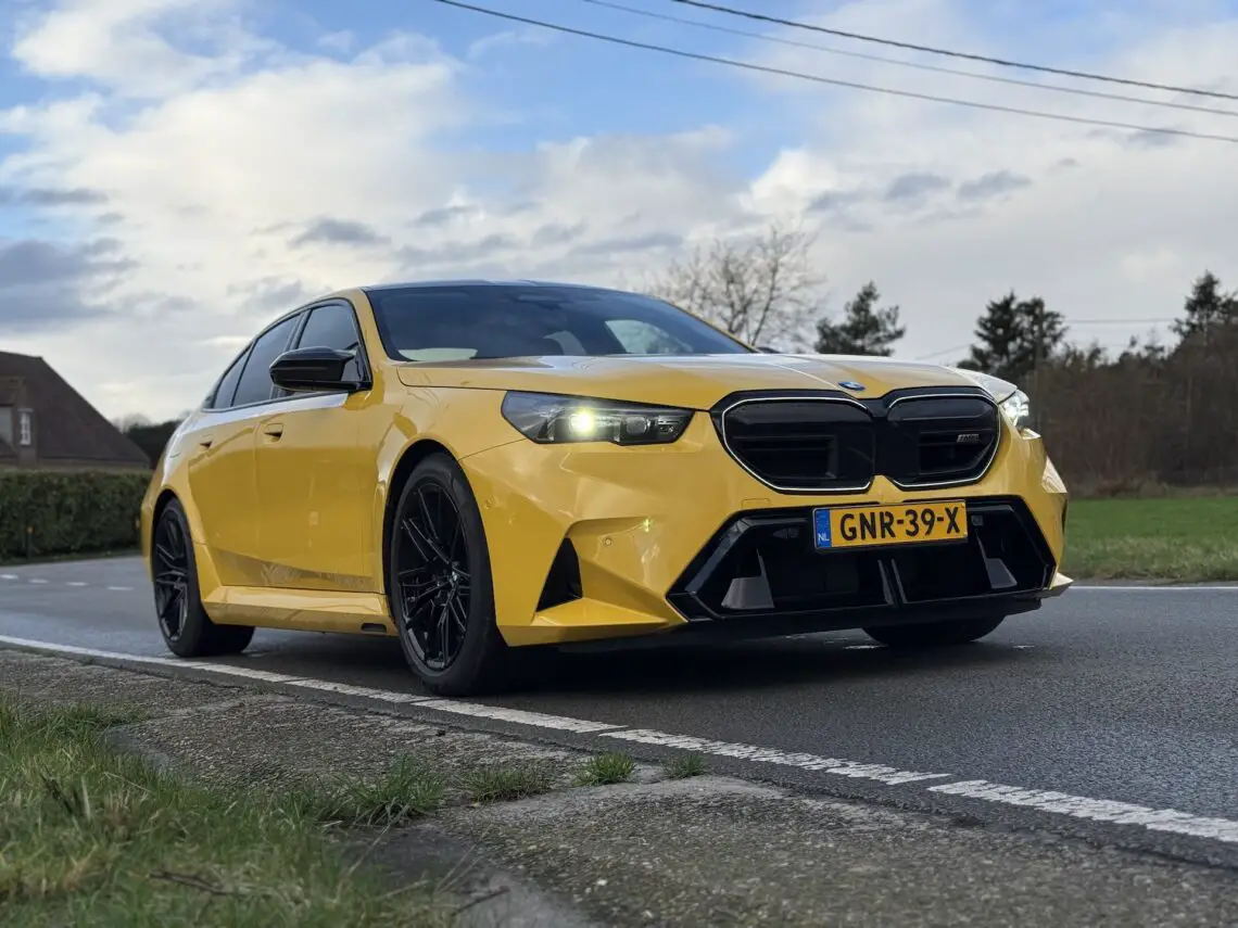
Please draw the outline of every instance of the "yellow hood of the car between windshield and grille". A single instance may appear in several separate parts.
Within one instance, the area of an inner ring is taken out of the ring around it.
[[[623,355],[423,361],[397,365],[406,386],[529,390],[708,410],[737,390],[836,390],[863,384],[862,396],[924,386],[977,386],[937,364],[853,355]],[[849,391],[853,392],[853,391]]]

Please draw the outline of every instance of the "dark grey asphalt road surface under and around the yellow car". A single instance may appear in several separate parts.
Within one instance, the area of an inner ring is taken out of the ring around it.
[[[0,636],[167,653],[135,558],[0,568]],[[260,631],[232,662],[417,690],[394,641]],[[951,652],[848,632],[572,655],[485,702],[1238,820],[1238,588],[1077,588]]]

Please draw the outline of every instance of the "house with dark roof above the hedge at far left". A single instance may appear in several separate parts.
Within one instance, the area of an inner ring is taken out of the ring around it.
[[[150,460],[42,358],[0,351],[0,468],[150,470]]]

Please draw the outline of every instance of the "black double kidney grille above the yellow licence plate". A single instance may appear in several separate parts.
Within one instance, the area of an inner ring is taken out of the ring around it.
[[[863,401],[737,395],[714,422],[732,457],[774,489],[841,492],[878,474],[905,489],[974,483],[997,453],[999,416],[983,391],[917,390]]]

